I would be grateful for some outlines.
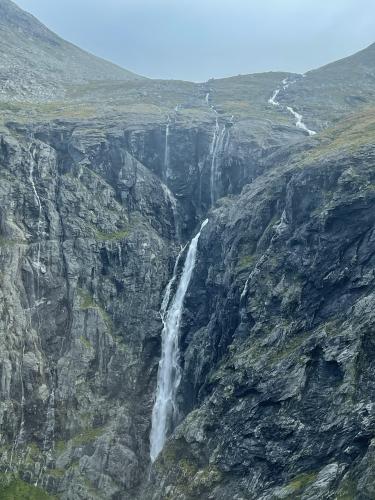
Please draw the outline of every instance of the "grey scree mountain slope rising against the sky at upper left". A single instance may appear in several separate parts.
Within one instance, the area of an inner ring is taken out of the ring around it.
[[[0,98],[50,100],[66,84],[138,75],[62,40],[10,0],[0,0]]]

